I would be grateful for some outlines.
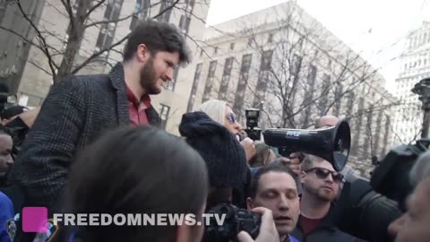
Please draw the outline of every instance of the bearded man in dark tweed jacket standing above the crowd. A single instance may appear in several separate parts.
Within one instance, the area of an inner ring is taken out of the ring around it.
[[[159,126],[150,95],[159,94],[190,56],[174,25],[141,22],[125,45],[123,63],[110,73],[73,75],[54,85],[13,167],[24,206],[57,212],[73,156],[106,131],[120,125]]]

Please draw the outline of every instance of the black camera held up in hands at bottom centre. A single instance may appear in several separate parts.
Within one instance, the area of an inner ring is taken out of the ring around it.
[[[204,231],[205,242],[228,242],[236,241],[240,231],[247,232],[252,238],[257,238],[260,232],[262,217],[259,214],[251,213],[245,209],[240,209],[233,204],[222,203],[208,212],[210,214],[226,214],[224,223],[218,225],[215,216],[211,216],[210,225]]]

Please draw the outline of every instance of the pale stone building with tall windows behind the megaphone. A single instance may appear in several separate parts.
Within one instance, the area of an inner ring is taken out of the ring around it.
[[[349,163],[366,177],[372,156],[381,160],[391,148],[397,100],[383,76],[293,1],[213,26],[205,42],[188,111],[223,99],[242,124],[245,108],[259,108],[262,129],[314,128],[317,117],[345,117]]]

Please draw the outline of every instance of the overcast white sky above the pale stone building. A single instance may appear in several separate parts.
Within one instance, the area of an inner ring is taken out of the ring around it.
[[[208,24],[214,25],[286,0],[211,0]],[[403,49],[401,41],[423,21],[430,0],[297,0],[297,4],[380,68],[391,90]],[[429,13],[429,12],[426,12]],[[369,33],[369,30],[370,33]]]

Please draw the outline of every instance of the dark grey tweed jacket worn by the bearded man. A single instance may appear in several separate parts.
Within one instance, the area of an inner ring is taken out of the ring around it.
[[[151,107],[146,112],[150,125],[159,126],[157,111]],[[23,205],[56,212],[75,153],[101,134],[130,124],[123,65],[54,85],[13,167]]]

